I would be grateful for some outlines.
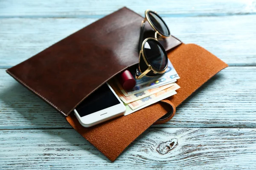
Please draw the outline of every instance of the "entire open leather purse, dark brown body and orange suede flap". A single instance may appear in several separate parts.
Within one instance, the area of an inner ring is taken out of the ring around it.
[[[143,17],[128,8],[82,28],[7,73],[55,108],[85,139],[114,161],[152,124],[169,121],[175,109],[228,65],[195,44],[176,37],[161,40],[180,76],[177,94],[93,127],[80,125],[73,110],[102,84],[139,61],[138,43]],[[154,32],[147,23],[145,36]]]

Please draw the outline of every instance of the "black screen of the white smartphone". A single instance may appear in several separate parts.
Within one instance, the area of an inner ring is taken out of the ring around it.
[[[104,84],[84,99],[84,101],[76,107],[76,111],[79,113],[80,117],[83,117],[105,108],[118,105],[119,103],[119,100],[108,85]]]

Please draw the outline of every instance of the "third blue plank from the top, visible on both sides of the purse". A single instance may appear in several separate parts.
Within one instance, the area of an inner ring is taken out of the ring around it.
[[[256,127],[256,67],[229,67],[155,127]],[[0,69],[0,129],[71,128],[57,111]]]

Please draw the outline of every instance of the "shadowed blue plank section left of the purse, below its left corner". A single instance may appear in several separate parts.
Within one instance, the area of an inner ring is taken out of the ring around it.
[[[0,129],[71,128],[64,116],[0,69]]]

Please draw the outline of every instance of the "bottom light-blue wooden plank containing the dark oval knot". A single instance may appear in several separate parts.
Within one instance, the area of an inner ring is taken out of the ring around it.
[[[0,130],[3,169],[255,169],[256,131],[150,128],[111,163],[73,129]]]

